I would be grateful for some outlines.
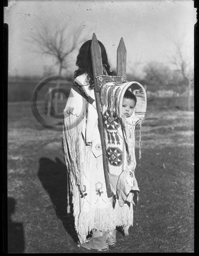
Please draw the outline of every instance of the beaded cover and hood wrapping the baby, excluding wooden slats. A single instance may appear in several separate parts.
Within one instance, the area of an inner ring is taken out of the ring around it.
[[[146,92],[140,83],[127,82],[121,76],[100,75],[97,79],[101,82],[100,102],[111,188],[121,207],[128,202],[136,204],[139,188],[134,175],[135,127],[137,123],[141,125],[145,117]],[[104,82],[107,80],[111,81]],[[122,115],[122,101],[126,90],[136,95],[137,99],[130,117]]]

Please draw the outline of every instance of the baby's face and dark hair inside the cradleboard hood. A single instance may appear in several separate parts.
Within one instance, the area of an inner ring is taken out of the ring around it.
[[[122,116],[132,116],[134,108],[136,107],[136,102],[136,96],[130,91],[126,90],[122,101]]]

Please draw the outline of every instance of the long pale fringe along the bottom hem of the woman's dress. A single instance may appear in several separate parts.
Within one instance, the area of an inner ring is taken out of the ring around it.
[[[88,212],[81,212],[79,205],[79,191],[77,187],[73,190],[73,208],[75,218],[75,229],[81,243],[86,242],[88,232],[92,229],[100,230],[101,232],[110,232],[116,228],[116,226],[122,226],[125,235],[128,235],[128,229],[133,226],[133,205],[130,207],[124,204],[120,207],[116,203],[115,208],[110,207],[110,204],[106,208],[90,209]],[[110,221],[111,220],[111,221]]]

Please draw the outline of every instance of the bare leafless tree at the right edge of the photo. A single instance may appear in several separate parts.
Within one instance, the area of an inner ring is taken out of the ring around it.
[[[175,72],[181,77],[181,81],[184,83],[187,89],[187,110],[190,110],[190,89],[193,86],[193,56],[190,53],[189,56],[185,53],[185,49],[188,45],[185,45],[185,41],[182,39],[171,40],[174,53],[170,56],[170,63],[175,68]],[[188,48],[189,49],[189,48]]]

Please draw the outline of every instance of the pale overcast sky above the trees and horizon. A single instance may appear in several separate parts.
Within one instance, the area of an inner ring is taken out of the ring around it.
[[[193,60],[193,4],[191,0],[11,0],[5,9],[5,23],[9,24],[9,74],[42,75],[44,65],[54,64],[53,58],[34,52],[34,42],[28,41],[42,23],[52,30],[58,24],[70,28],[81,25],[87,39],[95,32],[107,49],[112,68],[116,66],[117,46],[123,37],[127,72],[137,61],[142,65],[149,61],[166,63],[173,52],[173,38],[181,40],[185,54]],[[72,72],[77,53],[74,51],[69,58]]]

